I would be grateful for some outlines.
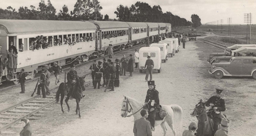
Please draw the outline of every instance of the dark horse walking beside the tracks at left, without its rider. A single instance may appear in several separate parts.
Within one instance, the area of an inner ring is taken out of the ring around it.
[[[63,104],[63,99],[64,99],[64,96],[65,96],[65,86],[64,86],[64,83],[62,82],[58,88],[58,91],[56,93],[56,102],[59,101],[59,97],[60,97],[60,94],[61,94],[61,111],[63,113],[64,110],[63,110],[63,107],[62,107],[62,104]],[[74,99],[76,99],[76,115],[78,114],[79,115],[79,118],[81,117],[80,115],[80,107],[79,107],[79,102],[82,98],[82,91],[85,91],[85,81],[84,81],[84,78],[79,78],[78,81],[75,83],[74,85],[74,91],[73,91],[73,94],[71,94],[70,92],[67,93],[67,98],[65,99],[65,102],[67,104],[67,108],[68,108],[68,112],[70,111],[70,107],[67,103],[68,99],[70,98],[70,96],[72,95],[72,97]],[[77,113],[78,112],[78,113]]]

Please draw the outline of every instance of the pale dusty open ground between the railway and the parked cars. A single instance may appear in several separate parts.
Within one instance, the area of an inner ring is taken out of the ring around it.
[[[212,52],[223,52],[223,50],[198,41],[187,42],[186,49],[181,48],[173,58],[162,63],[161,73],[153,73],[153,80],[156,82],[156,89],[160,95],[160,104],[177,104],[183,108],[184,117],[181,127],[175,121],[177,135],[182,135],[182,131],[187,129],[189,123],[192,120],[196,121],[195,117],[190,116],[195,105],[200,99],[206,101],[215,93],[214,88],[220,86],[225,89],[223,98],[226,101],[227,110],[224,113],[231,120],[229,135],[256,135],[255,80],[251,77],[215,79],[208,73],[210,64],[206,61],[209,53]],[[66,114],[61,113],[59,103],[52,105],[53,111],[45,113],[40,120],[31,121],[33,135],[133,135],[133,117],[122,118],[120,116],[121,102],[123,95],[144,102],[147,91],[144,76],[145,73],[139,73],[137,69],[133,77],[120,76],[121,85],[115,88],[114,92],[104,93],[103,88],[93,89],[89,86],[84,92],[86,97],[80,103],[82,118],[75,115],[74,100],[69,101],[71,112]],[[67,111],[65,104],[64,107]],[[3,136],[18,136],[21,129],[16,129],[15,134],[3,134]],[[162,128],[157,126],[153,135],[162,134]],[[169,127],[167,135],[173,136]]]

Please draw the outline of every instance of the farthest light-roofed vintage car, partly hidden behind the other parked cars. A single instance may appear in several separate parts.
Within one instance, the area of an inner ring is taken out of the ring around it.
[[[241,47],[256,47],[256,44],[234,44],[230,47],[227,47],[223,53],[211,53],[209,59],[207,60],[209,63],[214,63],[217,57],[220,56],[232,56],[232,50],[239,49]],[[234,54],[233,54],[234,56]],[[232,58],[232,57],[230,57]]]

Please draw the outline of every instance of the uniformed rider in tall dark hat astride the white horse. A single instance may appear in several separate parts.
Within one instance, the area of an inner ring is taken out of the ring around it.
[[[148,119],[151,124],[152,131],[155,130],[156,112],[160,109],[158,91],[156,90],[155,81],[148,81],[148,91],[144,106],[150,111]]]

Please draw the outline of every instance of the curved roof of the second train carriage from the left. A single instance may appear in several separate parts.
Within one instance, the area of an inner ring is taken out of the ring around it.
[[[120,21],[86,21],[97,25],[98,29],[108,29],[108,28],[129,28],[130,26],[126,22]]]

